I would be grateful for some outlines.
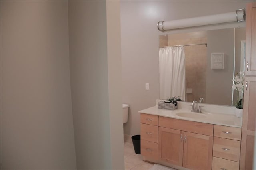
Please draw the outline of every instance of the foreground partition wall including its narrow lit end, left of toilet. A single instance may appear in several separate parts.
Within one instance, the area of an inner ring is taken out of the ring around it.
[[[69,1],[68,7],[77,168],[123,169],[120,16],[113,16],[119,4]]]

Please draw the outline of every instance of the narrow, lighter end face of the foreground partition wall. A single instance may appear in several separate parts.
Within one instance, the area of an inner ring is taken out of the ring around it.
[[[107,1],[108,95],[112,169],[124,169],[120,2]]]

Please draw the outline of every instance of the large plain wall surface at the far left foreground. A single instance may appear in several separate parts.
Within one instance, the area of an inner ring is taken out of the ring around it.
[[[1,169],[76,169],[68,2],[1,1]]]

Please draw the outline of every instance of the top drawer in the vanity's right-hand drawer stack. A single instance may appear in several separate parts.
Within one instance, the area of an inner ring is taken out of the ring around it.
[[[241,140],[241,130],[242,128],[214,125],[213,136],[233,140]]]

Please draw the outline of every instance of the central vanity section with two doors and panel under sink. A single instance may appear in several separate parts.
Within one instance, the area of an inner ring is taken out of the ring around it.
[[[158,159],[185,168],[209,170],[212,167],[212,135],[212,124],[160,116]]]

